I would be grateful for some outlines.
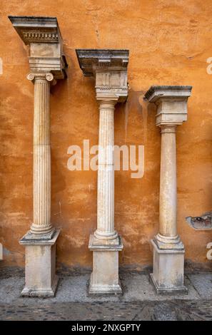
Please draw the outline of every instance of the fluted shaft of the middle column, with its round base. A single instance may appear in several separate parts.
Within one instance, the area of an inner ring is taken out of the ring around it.
[[[99,103],[99,165],[97,190],[97,230],[99,239],[115,239],[114,230],[114,106],[116,100]]]

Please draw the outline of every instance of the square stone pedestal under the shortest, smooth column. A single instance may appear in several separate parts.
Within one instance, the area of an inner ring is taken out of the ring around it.
[[[154,240],[153,273],[151,281],[157,294],[188,294],[184,286],[184,254],[185,249],[160,249]]]

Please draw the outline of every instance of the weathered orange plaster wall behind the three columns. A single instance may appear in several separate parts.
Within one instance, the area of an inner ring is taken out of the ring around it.
[[[144,145],[145,172],[115,172],[116,229],[123,237],[121,264],[152,263],[150,239],[158,231],[161,135],[156,108],[143,101],[155,85],[191,85],[188,121],[177,130],[178,232],[186,259],[208,262],[212,232],[196,232],[185,217],[212,209],[212,56],[210,0],[1,0],[0,76],[1,197],[0,241],[4,264],[24,264],[19,238],[32,220],[32,130],[34,87],[26,46],[8,15],[57,16],[69,63],[69,78],[51,94],[52,209],[61,227],[57,260],[68,266],[91,266],[89,234],[96,227],[94,171],[69,171],[67,148],[89,139],[98,143],[99,110],[93,78],[84,78],[75,48],[128,48],[130,92],[116,105],[115,143]]]

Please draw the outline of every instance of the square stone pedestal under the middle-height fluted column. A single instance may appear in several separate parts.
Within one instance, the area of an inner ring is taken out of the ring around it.
[[[99,240],[100,241],[100,240]],[[89,249],[93,251],[93,272],[89,283],[89,294],[121,294],[118,278],[118,252],[123,249],[121,237],[104,243],[90,236]]]

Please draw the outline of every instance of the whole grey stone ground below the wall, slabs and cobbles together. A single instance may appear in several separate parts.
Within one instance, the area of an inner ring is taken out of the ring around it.
[[[1,269],[0,269],[1,270]],[[23,272],[1,271],[0,320],[212,320],[212,274],[186,274],[188,294],[158,296],[148,274],[121,273],[123,295],[89,297],[89,273],[61,275],[54,298],[20,297]]]

